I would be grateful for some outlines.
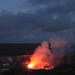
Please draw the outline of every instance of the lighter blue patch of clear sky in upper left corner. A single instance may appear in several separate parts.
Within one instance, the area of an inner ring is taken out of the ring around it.
[[[25,0],[0,0],[0,11],[8,10],[12,12],[21,11],[21,4]]]

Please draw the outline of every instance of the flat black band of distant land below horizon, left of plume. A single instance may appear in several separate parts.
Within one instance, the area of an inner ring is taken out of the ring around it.
[[[0,56],[32,54],[40,44],[0,44]]]

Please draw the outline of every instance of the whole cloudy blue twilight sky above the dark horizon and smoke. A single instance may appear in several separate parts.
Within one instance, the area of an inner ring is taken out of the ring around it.
[[[56,37],[74,42],[75,0],[0,0],[0,43]]]

